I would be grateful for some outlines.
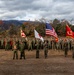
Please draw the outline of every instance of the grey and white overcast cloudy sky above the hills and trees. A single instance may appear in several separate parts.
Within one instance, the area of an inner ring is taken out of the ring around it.
[[[72,19],[74,0],[0,0],[0,19]]]

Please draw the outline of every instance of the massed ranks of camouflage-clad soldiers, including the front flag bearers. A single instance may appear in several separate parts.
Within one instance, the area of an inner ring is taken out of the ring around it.
[[[45,59],[48,57],[49,50],[63,50],[64,56],[67,57],[68,51],[72,51],[72,58],[74,59],[74,39],[59,38],[45,39],[42,42],[36,38],[0,38],[0,49],[12,50],[13,59],[18,59],[18,51],[20,51],[20,59],[25,59],[25,50],[36,50],[36,58],[39,58],[40,50],[44,50]]]

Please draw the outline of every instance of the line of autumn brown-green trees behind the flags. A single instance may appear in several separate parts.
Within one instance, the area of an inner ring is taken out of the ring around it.
[[[34,29],[36,29],[43,37],[45,37],[45,29],[46,29],[45,24],[46,21],[43,19],[40,19],[39,21],[36,20],[36,21],[24,22],[20,26],[11,24],[9,29],[0,30],[0,36],[21,37],[20,29],[22,28],[26,36],[34,37]],[[58,36],[65,36],[66,24],[68,24],[69,27],[72,29],[72,31],[74,31],[74,25],[71,25],[67,20],[60,21],[58,19],[54,19],[53,21],[50,22],[50,24],[55,29]]]

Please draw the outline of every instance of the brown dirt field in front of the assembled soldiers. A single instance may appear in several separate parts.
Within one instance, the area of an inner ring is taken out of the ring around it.
[[[18,52],[20,55],[20,52]],[[35,50],[26,50],[26,59],[13,60],[13,51],[0,50],[0,75],[74,75],[72,52],[64,57],[63,51],[40,51],[40,58],[35,58]]]

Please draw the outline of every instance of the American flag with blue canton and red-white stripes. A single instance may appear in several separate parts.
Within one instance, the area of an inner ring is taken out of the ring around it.
[[[49,23],[46,23],[46,35],[54,36],[57,38],[57,34],[56,34],[54,28]]]

